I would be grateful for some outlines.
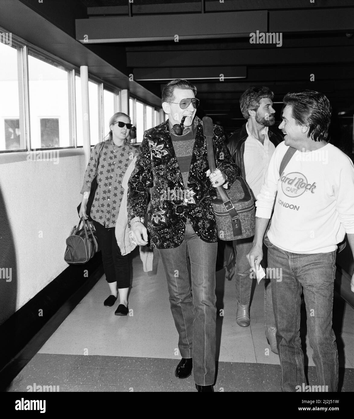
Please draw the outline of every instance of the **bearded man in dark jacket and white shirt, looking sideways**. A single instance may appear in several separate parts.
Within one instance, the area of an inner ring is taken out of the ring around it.
[[[280,134],[268,131],[268,127],[275,124],[273,97],[274,93],[265,86],[251,87],[242,93],[239,102],[242,115],[247,119],[247,122],[233,132],[227,141],[227,148],[239,167],[239,176],[242,176],[250,186],[253,199],[257,197],[263,185],[275,147],[283,141]],[[252,248],[252,241],[253,237],[234,240],[233,247],[236,251],[236,258],[232,264],[226,267],[226,276],[229,279],[235,274],[236,321],[242,327],[250,326],[253,274],[250,274],[250,265],[246,255]],[[266,266],[263,267],[266,268]],[[272,352],[277,354],[271,284],[268,278],[265,278],[264,318],[266,337]]]

